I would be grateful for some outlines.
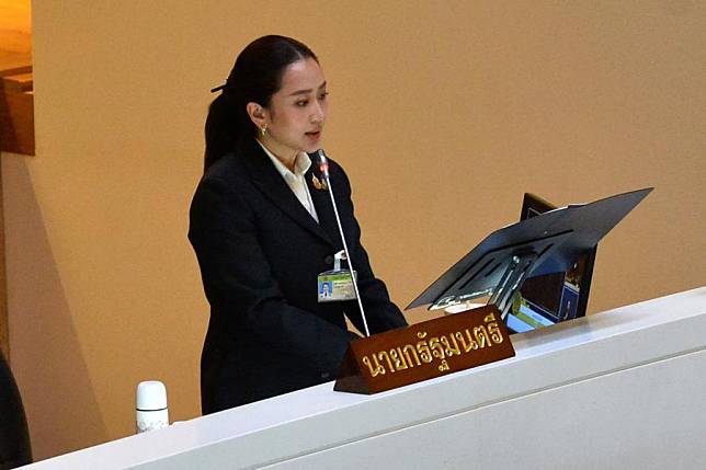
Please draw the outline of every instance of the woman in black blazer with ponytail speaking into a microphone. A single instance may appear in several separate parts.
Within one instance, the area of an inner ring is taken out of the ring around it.
[[[264,36],[238,56],[206,119],[206,170],[189,239],[210,302],[202,354],[204,414],[335,378],[363,331],[356,300],[319,301],[342,250],[330,196],[307,153],[321,147],[327,83],[316,55]],[[349,180],[331,186],[371,333],[405,326],[360,241]]]

